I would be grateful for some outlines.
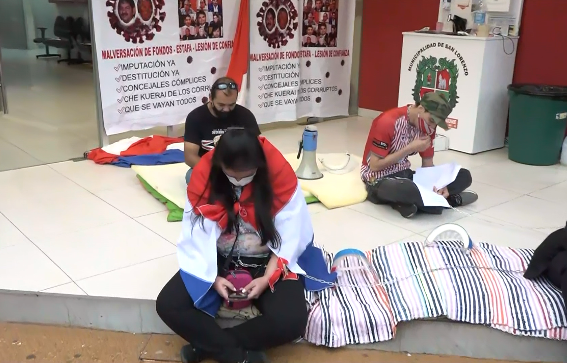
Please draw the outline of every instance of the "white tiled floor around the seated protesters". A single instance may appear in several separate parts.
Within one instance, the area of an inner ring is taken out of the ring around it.
[[[318,125],[319,152],[362,154],[369,126],[363,118]],[[264,134],[289,153],[296,151],[301,129]],[[456,222],[477,242],[535,248],[565,225],[566,167],[516,164],[505,149],[435,156],[437,164],[449,161],[471,170],[480,196],[462,208],[466,214],[407,220],[370,203],[336,210],[315,204],[309,210],[317,242],[331,251],[371,249],[420,240],[436,226]],[[177,270],[180,224],[166,221],[164,206],[130,169],[83,161],[2,172],[0,213],[0,289],[152,299]]]

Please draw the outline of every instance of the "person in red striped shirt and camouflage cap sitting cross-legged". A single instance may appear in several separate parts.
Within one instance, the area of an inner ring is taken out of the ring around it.
[[[435,129],[448,129],[445,119],[452,111],[442,94],[431,92],[419,103],[386,111],[372,122],[360,169],[370,202],[390,204],[405,218],[418,210],[442,213],[443,207],[423,205],[408,156],[419,153],[422,167],[433,166]],[[475,192],[465,191],[471,184],[470,171],[461,169],[455,181],[434,191],[447,198],[450,206],[460,207],[478,199]]]

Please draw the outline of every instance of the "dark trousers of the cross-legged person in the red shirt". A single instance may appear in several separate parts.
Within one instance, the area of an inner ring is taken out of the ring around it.
[[[441,214],[443,207],[425,207],[419,189],[413,182],[411,169],[388,175],[376,181],[373,185],[366,185],[368,200],[376,204],[414,204],[425,213]],[[455,181],[447,185],[449,195],[459,194],[472,184],[471,172],[467,169],[459,170]]]

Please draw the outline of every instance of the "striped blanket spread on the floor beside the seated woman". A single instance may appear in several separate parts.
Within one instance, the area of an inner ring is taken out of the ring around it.
[[[457,242],[383,246],[339,267],[337,287],[306,295],[305,339],[341,347],[390,340],[402,321],[445,316],[515,335],[567,340],[561,292],[547,280],[523,278],[533,250]],[[327,255],[332,261],[333,256]]]

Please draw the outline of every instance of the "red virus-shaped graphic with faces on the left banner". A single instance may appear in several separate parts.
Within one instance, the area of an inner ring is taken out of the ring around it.
[[[165,0],[106,0],[112,29],[134,44],[150,41],[161,31]]]

